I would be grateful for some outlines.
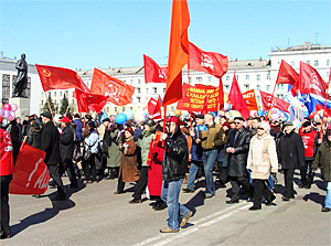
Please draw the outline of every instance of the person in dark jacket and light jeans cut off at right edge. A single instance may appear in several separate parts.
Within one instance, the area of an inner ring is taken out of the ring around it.
[[[327,195],[324,200],[324,206],[322,212],[330,212],[331,211],[331,125],[327,129],[327,138],[319,146],[317,150],[317,154],[313,159],[312,163],[312,171],[320,168],[322,172],[322,178],[325,182],[327,186]]]

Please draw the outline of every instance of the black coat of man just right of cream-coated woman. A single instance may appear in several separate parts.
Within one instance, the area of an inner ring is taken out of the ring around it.
[[[281,169],[298,169],[305,165],[305,147],[300,135],[293,130],[285,133],[277,145],[277,156]]]

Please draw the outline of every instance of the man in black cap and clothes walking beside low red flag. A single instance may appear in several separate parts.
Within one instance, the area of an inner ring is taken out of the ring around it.
[[[58,172],[58,165],[61,163],[60,157],[60,132],[52,121],[51,113],[41,114],[42,121],[44,124],[42,138],[41,138],[41,150],[46,152],[45,164],[49,168],[50,175],[57,185],[57,195],[53,197],[53,201],[66,200],[63,183]]]

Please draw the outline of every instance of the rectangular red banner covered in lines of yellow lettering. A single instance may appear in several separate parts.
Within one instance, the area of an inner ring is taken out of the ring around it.
[[[177,108],[189,111],[217,111],[220,88],[214,86],[183,84],[183,99]]]

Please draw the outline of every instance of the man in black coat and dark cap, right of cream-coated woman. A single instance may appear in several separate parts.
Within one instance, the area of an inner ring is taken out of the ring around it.
[[[285,135],[277,145],[277,156],[285,180],[285,193],[281,199],[288,202],[297,194],[293,189],[293,174],[295,169],[305,167],[305,147],[301,136],[295,132],[291,121],[284,124],[284,131]]]

